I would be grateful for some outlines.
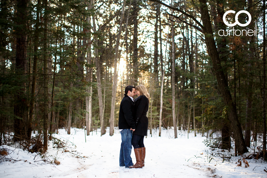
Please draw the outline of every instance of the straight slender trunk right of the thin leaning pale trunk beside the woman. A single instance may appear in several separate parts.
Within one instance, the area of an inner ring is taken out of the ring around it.
[[[171,0],[171,4],[173,4],[173,0]],[[173,14],[173,10],[171,10],[171,14]],[[173,19],[173,17],[171,17]],[[171,58],[171,88],[172,88],[172,120],[174,127],[174,138],[177,138],[177,125],[176,125],[176,115],[175,115],[175,43],[174,43],[174,23],[171,21],[171,38],[172,38],[172,58]]]

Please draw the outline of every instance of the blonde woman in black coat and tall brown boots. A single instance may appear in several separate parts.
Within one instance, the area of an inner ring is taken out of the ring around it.
[[[146,155],[144,136],[147,136],[148,129],[148,118],[146,115],[149,107],[149,94],[144,85],[137,85],[135,90],[138,97],[134,100],[136,128],[132,137],[132,145],[134,147],[136,164],[129,166],[129,168],[142,168]]]

